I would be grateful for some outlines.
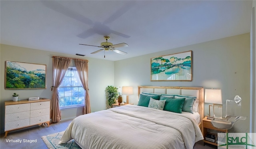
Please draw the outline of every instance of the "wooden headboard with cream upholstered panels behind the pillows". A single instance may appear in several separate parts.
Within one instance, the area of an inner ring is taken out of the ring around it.
[[[203,87],[180,87],[180,86],[138,86],[138,97],[140,93],[163,93],[195,96],[198,100],[198,113],[200,120],[204,118],[204,88]]]

